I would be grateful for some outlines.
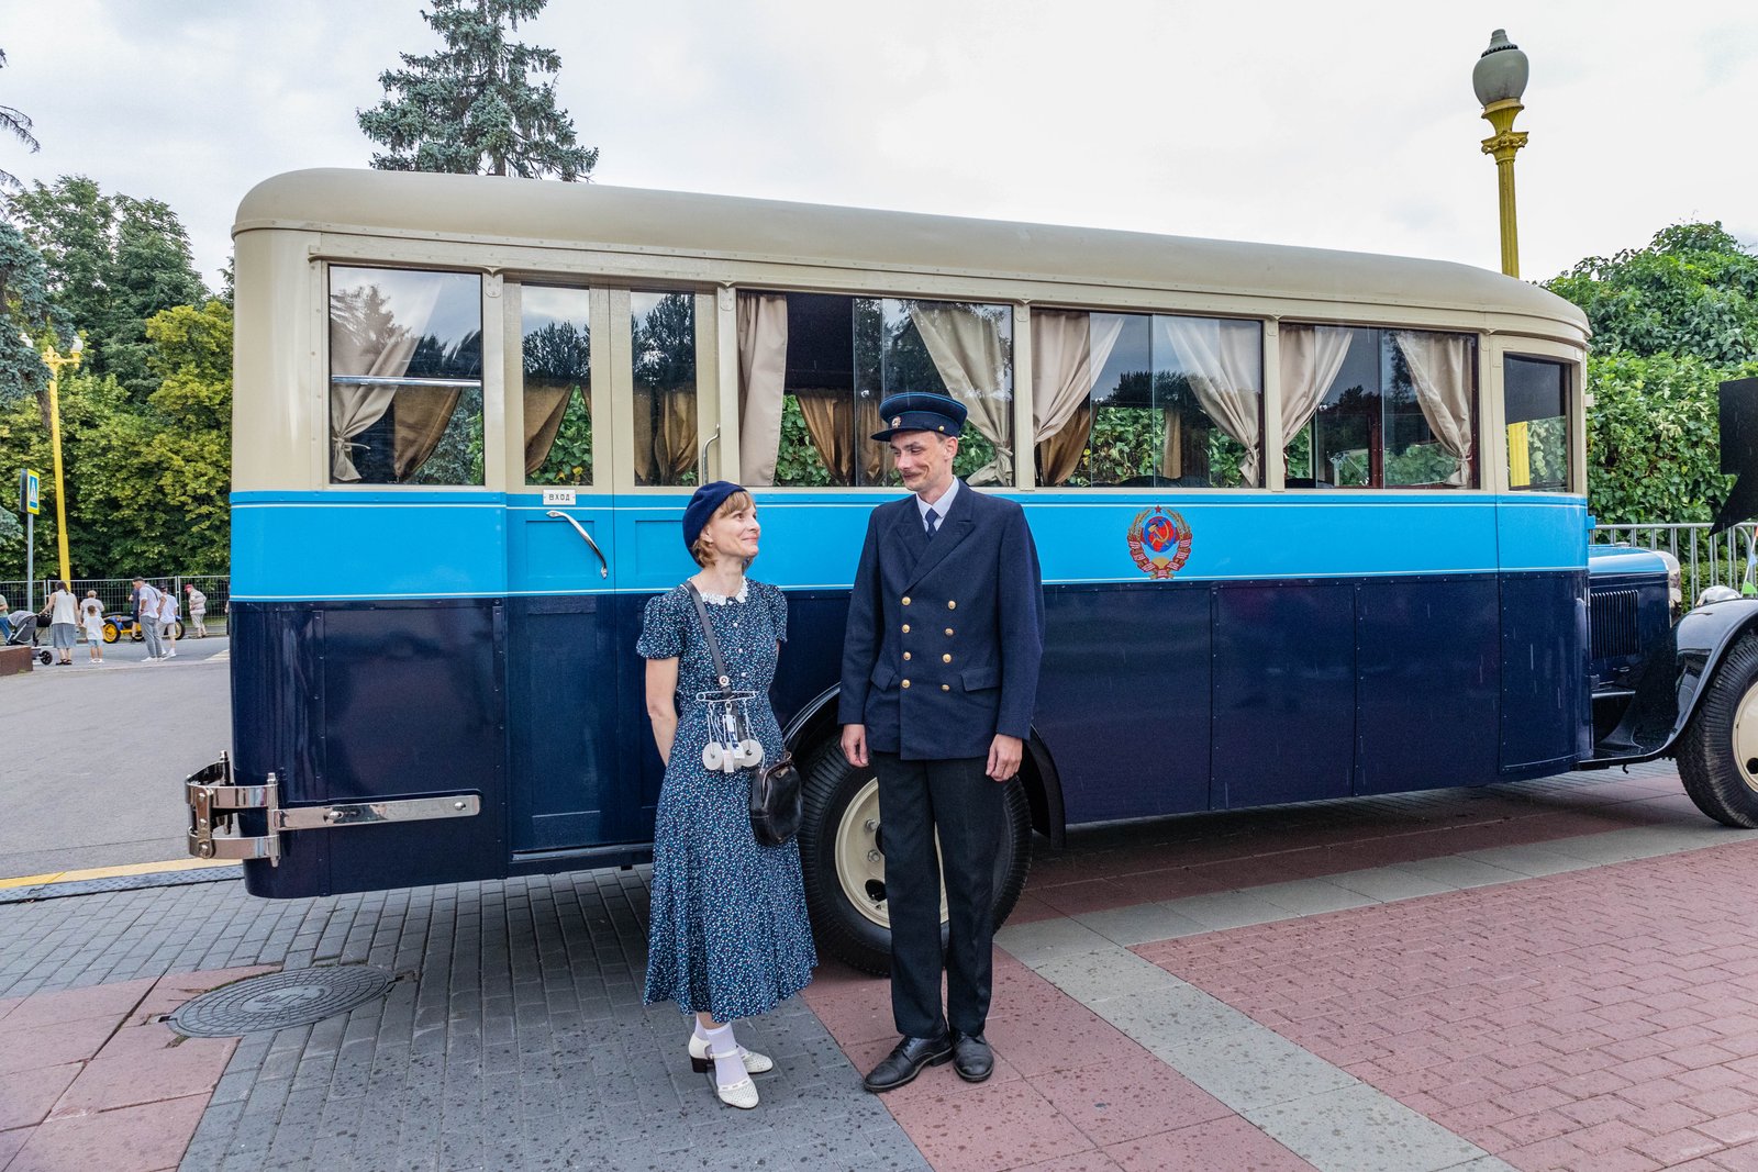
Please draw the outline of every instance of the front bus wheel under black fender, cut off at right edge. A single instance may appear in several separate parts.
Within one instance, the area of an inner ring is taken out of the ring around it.
[[[1758,828],[1758,634],[1728,650],[1681,742],[1679,777],[1696,808]]]

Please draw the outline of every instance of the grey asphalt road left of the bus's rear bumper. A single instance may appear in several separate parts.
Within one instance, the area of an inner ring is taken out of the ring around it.
[[[232,743],[229,641],[0,676],[0,879],[188,857],[183,778]]]

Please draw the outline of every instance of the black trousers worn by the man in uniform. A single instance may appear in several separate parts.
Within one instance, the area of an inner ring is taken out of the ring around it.
[[[948,1023],[983,1033],[988,1019],[995,937],[995,854],[1002,791],[986,757],[904,761],[874,752],[884,887],[891,910],[891,1016],[912,1038],[939,1037]],[[944,949],[946,1012],[941,1012],[941,835],[949,933]]]

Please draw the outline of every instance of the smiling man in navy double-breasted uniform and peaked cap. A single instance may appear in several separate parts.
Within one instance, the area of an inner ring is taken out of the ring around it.
[[[1002,784],[1020,771],[1044,647],[1044,590],[1025,511],[953,474],[965,408],[933,394],[879,404],[911,496],[867,520],[842,648],[842,752],[879,778],[891,1014],[902,1042],[865,1079],[911,1082],[953,1060],[981,1082],[995,1068],[990,1009],[993,866]],[[941,1009],[941,872],[949,937]]]

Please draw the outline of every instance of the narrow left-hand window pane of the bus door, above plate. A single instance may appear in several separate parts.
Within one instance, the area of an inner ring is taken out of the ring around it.
[[[592,346],[584,288],[526,285],[526,481],[592,483]]]

